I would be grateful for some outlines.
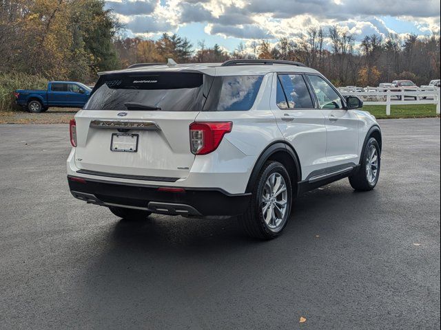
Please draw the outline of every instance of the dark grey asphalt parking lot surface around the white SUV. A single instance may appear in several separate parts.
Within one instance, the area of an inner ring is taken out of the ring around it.
[[[273,241],[123,221],[70,195],[67,125],[0,125],[0,328],[439,329],[440,120],[380,125],[376,189],[307,193]]]

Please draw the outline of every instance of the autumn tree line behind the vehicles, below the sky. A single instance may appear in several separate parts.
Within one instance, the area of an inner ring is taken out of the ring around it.
[[[223,62],[232,58],[300,61],[336,85],[377,85],[440,78],[440,34],[377,34],[357,41],[338,26],[309,28],[302,38],[240,43],[233,52],[185,36],[123,37],[124,26],[103,0],[0,0],[0,73],[96,80],[96,73],[133,63]]]

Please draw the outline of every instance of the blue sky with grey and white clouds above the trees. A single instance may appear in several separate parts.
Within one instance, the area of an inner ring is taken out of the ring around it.
[[[427,36],[440,32],[439,0],[106,0],[126,36],[158,39],[164,32],[198,49],[215,43],[228,52],[243,43],[298,39],[311,26],[338,25],[360,41],[367,34]]]

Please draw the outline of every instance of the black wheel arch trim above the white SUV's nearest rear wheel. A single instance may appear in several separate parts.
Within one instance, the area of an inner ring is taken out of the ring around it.
[[[262,153],[260,153],[256,164],[254,164],[252,173],[249,176],[247,189],[245,192],[252,192],[254,181],[256,181],[260,170],[263,168],[263,165],[269,160],[280,162],[280,164],[285,166],[289,176],[291,177],[293,196],[296,196],[297,184],[302,178],[302,168],[300,167],[300,161],[296,151],[285,141],[273,142],[267,146]],[[292,175],[292,173],[296,173],[296,175]]]

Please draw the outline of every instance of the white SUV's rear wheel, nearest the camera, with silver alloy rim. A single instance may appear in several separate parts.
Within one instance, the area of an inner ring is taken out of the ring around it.
[[[278,192],[278,195],[274,196],[274,192]],[[288,223],[291,203],[289,174],[285,166],[270,161],[260,170],[247,211],[240,215],[238,220],[249,236],[256,239],[274,239]]]

